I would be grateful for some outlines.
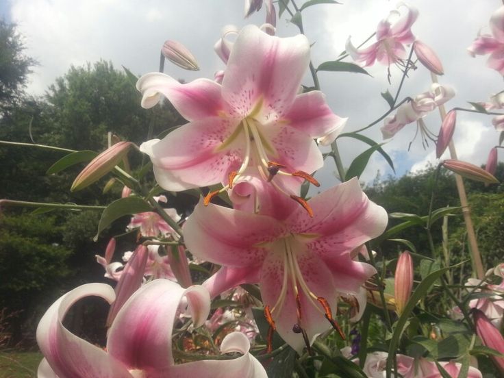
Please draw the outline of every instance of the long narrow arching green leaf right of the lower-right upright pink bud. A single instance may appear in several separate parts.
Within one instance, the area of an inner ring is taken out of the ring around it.
[[[436,270],[436,272],[431,273],[418,284],[418,286],[412,293],[412,296],[409,297],[409,301],[407,301],[404,307],[403,314],[401,314],[399,320],[397,320],[396,327],[394,328],[394,332],[392,333],[392,338],[390,339],[390,344],[388,347],[389,357],[395,355],[397,346],[399,345],[399,339],[401,338],[401,335],[403,333],[404,326],[407,323],[409,314],[411,314],[411,312],[415,308],[416,303],[418,303],[420,299],[425,297],[425,294],[427,294],[428,290],[431,288],[434,282],[436,282],[436,280],[439,279],[439,277],[441,277],[447,270],[449,270],[450,268],[454,268],[455,266]],[[389,358],[387,360],[387,378],[390,378],[391,370],[392,370],[392,358]]]

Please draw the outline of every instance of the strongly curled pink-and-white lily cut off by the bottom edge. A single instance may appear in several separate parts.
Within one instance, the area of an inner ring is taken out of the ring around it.
[[[220,351],[240,352],[240,357],[175,364],[172,331],[180,306],[188,305],[194,327],[202,325],[210,312],[209,294],[201,286],[183,289],[177,283],[156,279],[140,288],[110,327],[106,351],[75,336],[62,324],[73,303],[88,296],[101,297],[108,303],[115,299],[110,286],[89,283],[58,299],[40,320],[37,342],[45,358],[38,369],[39,378],[266,378],[260,362],[249,354],[249,340],[239,332],[230,333]]]

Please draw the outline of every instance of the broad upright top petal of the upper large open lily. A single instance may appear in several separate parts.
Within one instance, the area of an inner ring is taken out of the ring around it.
[[[310,43],[303,35],[269,36],[254,25],[244,27],[227,62],[222,95],[240,116],[263,123],[286,114],[310,62]]]

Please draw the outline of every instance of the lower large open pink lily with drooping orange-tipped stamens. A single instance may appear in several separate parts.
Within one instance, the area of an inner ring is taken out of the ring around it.
[[[188,249],[223,266],[205,282],[212,297],[240,283],[260,283],[272,329],[301,353],[333,325],[338,293],[357,294],[376,273],[352,251],[387,225],[383,207],[357,179],[310,199],[313,217],[294,207],[285,220],[203,201],[184,225]],[[327,322],[329,320],[329,323]],[[300,334],[302,333],[302,334]]]

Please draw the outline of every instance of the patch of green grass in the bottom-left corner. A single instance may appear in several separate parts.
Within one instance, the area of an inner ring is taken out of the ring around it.
[[[0,350],[0,378],[34,378],[40,360],[40,352]]]

